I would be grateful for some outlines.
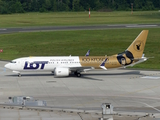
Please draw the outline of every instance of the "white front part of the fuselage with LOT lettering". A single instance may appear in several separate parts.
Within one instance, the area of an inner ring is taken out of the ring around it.
[[[5,65],[13,71],[54,71],[56,67],[81,67],[79,57],[24,57]]]

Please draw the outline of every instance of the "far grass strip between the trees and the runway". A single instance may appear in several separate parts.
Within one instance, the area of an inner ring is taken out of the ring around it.
[[[159,23],[160,12],[50,12],[0,15],[0,27]]]

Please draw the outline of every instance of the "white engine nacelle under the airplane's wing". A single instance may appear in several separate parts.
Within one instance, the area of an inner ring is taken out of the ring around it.
[[[57,77],[69,76],[69,68],[56,68],[54,75]]]

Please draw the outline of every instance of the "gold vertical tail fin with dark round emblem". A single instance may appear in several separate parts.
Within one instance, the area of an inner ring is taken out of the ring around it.
[[[141,58],[148,36],[148,30],[143,30],[132,44],[127,48],[127,51],[133,54],[134,58]]]

